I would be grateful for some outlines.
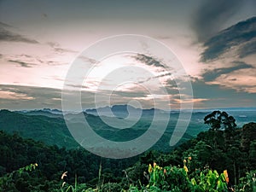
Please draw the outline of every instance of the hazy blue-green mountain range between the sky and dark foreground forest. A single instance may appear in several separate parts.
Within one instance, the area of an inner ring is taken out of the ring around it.
[[[226,111],[235,117],[238,126],[255,121],[256,119],[256,109],[254,110],[254,108],[240,108],[240,110],[239,108],[233,108],[233,110]],[[153,147],[154,149],[165,151],[171,149],[169,141],[179,116],[178,111],[172,111],[170,113],[160,109],[140,109],[126,105],[87,109],[81,113],[83,113],[84,119],[86,119],[96,134],[116,142],[129,141],[143,135],[143,133],[148,130],[152,118],[154,117],[154,113],[169,113],[170,119],[166,131],[158,143]],[[211,111],[195,110],[192,113],[189,126],[183,135],[183,138],[180,140],[180,143],[183,143],[189,138],[195,137],[199,132],[208,129],[207,125],[204,125],[203,122],[207,113],[211,113]],[[131,114],[133,114],[133,116]],[[104,120],[113,122],[116,118],[126,119],[129,117],[131,119],[125,121],[129,124],[129,120],[136,118],[137,114],[141,114],[141,118],[130,128],[119,129],[107,125],[104,122]],[[104,117],[104,119],[102,117]],[[67,113],[65,118],[66,120],[72,120],[73,122],[78,123],[78,125],[80,123],[78,121],[79,119],[77,119],[78,113]],[[161,121],[161,119],[159,119],[159,121]],[[62,112],[58,109],[44,108],[13,112],[2,109],[0,110],[0,130],[8,131],[9,133],[17,132],[22,137],[33,138],[50,145],[55,144],[59,147],[79,147],[79,143],[73,139],[73,136],[67,128]]]

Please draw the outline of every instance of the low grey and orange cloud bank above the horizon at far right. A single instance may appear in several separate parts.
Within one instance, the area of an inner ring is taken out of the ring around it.
[[[252,69],[241,70],[252,71]],[[238,73],[241,73],[241,71],[237,71],[237,74]],[[248,81],[248,79],[244,79],[243,73],[241,74],[241,84],[243,84],[242,86],[237,84],[240,82],[240,79],[238,79],[236,75],[232,75],[230,77],[230,74],[227,74],[225,76],[227,78],[227,82],[225,84],[224,81],[220,80],[218,81],[218,83],[223,82],[223,84],[213,84],[213,82],[205,82],[204,79],[192,79],[191,84],[193,87],[194,98],[208,99],[207,101],[195,103],[195,108],[230,108],[230,106],[232,108],[238,108],[255,106],[255,92],[250,92],[250,94],[248,94],[247,91],[237,91],[236,89],[234,89],[234,87],[227,87],[231,86],[231,84],[236,84],[237,88],[246,88],[245,81]],[[252,82],[252,80],[250,81]]]

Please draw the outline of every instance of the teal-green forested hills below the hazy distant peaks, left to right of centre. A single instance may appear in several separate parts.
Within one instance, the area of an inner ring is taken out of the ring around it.
[[[160,141],[154,145],[154,149],[161,151],[169,151],[170,138],[172,137],[172,131],[177,122],[177,114],[170,120],[169,125],[166,128],[166,132]],[[75,119],[76,114],[68,114],[68,119]],[[129,129],[116,129],[109,125],[106,125],[102,119],[93,114],[84,113],[84,118],[91,125],[91,128],[96,133],[108,140],[112,141],[129,141],[136,137],[143,135],[150,126],[151,116],[140,119],[136,125]],[[108,117],[109,120],[112,117]],[[195,126],[195,123],[193,123]],[[49,145],[57,145],[58,147],[66,148],[78,148],[77,143],[71,136],[65,120],[60,113],[50,113],[49,111],[32,111],[32,112],[10,112],[9,110],[0,110],[0,130],[7,131],[9,133],[17,132],[21,137],[33,138],[36,141],[42,141]],[[192,138],[192,134],[197,134],[201,128],[190,129],[190,132],[186,132],[183,135],[180,143]],[[191,134],[191,135],[190,135]]]

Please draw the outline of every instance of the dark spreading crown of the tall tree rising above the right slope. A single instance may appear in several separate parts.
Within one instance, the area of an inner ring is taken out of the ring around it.
[[[226,112],[213,111],[204,119],[205,124],[210,125],[213,131],[224,128],[225,131],[234,131],[236,129],[236,119]]]

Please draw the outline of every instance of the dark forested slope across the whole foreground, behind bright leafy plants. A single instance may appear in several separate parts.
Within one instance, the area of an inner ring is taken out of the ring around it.
[[[238,185],[239,178],[256,167],[256,123],[234,131],[211,129],[169,153],[148,151],[125,160],[103,159],[82,148],[47,146],[4,131],[0,131],[0,151],[2,191],[59,191],[55,189],[60,189],[63,172],[68,172],[67,183],[73,184],[76,176],[81,189],[96,188],[100,182],[103,191],[120,191],[131,185],[146,186],[148,164],[182,167],[188,158],[189,170],[227,170],[230,183]],[[35,171],[9,174],[31,163],[38,164]]]

